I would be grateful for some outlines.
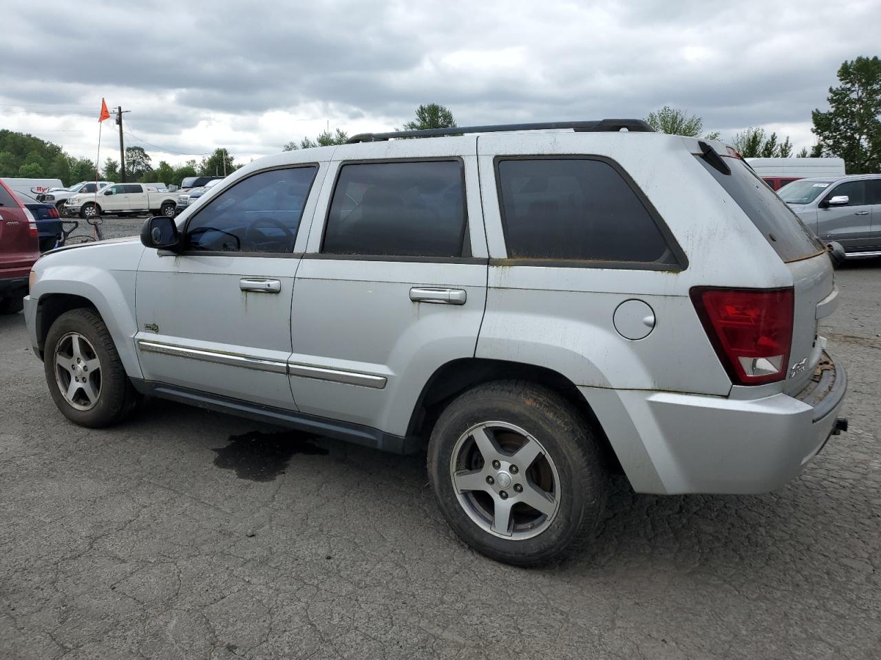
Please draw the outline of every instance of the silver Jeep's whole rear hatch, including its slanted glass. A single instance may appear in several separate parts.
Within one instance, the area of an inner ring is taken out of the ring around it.
[[[832,313],[837,304],[832,261],[814,233],[736,152],[716,153],[715,157],[700,154],[698,159],[744,210],[792,274],[792,345],[788,363],[783,367],[787,370],[783,391],[801,392],[811,380],[823,351],[817,334],[818,321]]]

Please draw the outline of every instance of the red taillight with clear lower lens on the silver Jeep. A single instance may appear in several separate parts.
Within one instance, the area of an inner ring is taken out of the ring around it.
[[[786,378],[794,300],[791,287],[692,289],[700,322],[735,385]]]

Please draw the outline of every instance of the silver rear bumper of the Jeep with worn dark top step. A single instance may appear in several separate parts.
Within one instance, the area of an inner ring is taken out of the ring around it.
[[[598,416],[637,492],[764,493],[795,479],[839,429],[847,385],[843,367],[825,355],[795,397],[619,391],[626,414],[618,420],[630,422],[618,423],[620,437]],[[628,427],[635,437],[624,435]]]

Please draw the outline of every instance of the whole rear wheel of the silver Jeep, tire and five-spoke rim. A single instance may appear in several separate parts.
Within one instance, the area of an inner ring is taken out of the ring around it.
[[[450,403],[428,445],[428,475],[459,537],[517,566],[574,554],[592,539],[608,483],[583,415],[523,381],[478,385]]]

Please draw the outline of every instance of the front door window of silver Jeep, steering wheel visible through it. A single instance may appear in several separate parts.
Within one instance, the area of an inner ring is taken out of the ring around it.
[[[291,253],[317,165],[258,172],[208,202],[187,223],[187,250]]]

